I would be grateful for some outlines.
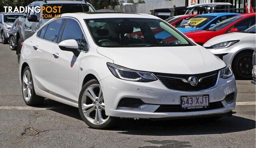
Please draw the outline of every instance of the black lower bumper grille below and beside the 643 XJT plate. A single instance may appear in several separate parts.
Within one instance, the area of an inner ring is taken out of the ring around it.
[[[160,105],[154,112],[190,112],[190,111],[204,111],[210,109],[220,109],[223,105],[221,101],[209,103],[208,108],[202,109],[182,109],[181,105]]]

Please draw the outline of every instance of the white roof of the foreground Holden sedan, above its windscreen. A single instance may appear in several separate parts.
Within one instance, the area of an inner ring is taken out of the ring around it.
[[[150,14],[134,14],[134,13],[124,13],[124,12],[78,12],[78,13],[68,13],[62,16],[78,16],[82,19],[97,19],[97,18],[151,18],[159,19],[156,16]]]

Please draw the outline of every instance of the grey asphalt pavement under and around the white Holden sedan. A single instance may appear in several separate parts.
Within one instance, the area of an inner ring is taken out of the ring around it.
[[[26,106],[15,51],[0,43],[0,148],[5,147],[252,147],[255,148],[255,85],[236,81],[232,117],[204,119],[122,119],[116,128],[95,130],[78,109],[46,99]]]

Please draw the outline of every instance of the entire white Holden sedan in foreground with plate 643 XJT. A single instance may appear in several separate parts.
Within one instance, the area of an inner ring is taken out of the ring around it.
[[[156,39],[152,28],[175,37]],[[141,30],[143,38],[129,34]],[[27,105],[49,98],[78,107],[92,128],[116,118],[231,115],[230,65],[173,26],[146,14],[64,14],[23,43],[20,83]],[[214,118],[215,118],[214,117]]]

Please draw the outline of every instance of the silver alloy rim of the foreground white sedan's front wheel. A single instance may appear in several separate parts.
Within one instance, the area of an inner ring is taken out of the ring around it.
[[[92,84],[82,95],[81,108],[86,119],[95,125],[104,124],[109,120],[105,113],[105,104],[99,84]]]

